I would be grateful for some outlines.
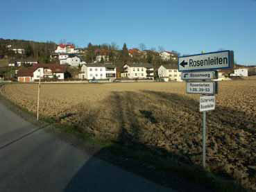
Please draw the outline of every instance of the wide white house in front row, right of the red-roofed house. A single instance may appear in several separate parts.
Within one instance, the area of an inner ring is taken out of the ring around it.
[[[117,78],[117,68],[112,64],[83,64],[79,78],[87,80],[115,79]]]

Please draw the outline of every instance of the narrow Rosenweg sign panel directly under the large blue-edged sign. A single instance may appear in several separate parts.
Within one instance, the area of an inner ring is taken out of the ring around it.
[[[182,72],[182,80],[211,80],[218,78],[217,71]]]

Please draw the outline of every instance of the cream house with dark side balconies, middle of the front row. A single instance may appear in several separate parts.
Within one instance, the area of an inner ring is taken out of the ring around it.
[[[154,68],[152,64],[148,63],[125,64],[121,77],[130,79],[154,79]]]

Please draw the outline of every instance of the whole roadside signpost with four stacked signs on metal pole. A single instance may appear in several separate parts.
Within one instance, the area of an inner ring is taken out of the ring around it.
[[[178,71],[186,80],[187,94],[201,94],[199,111],[203,112],[203,168],[206,167],[206,112],[215,109],[215,96],[218,94],[217,69],[232,69],[233,51],[218,51],[178,58]]]

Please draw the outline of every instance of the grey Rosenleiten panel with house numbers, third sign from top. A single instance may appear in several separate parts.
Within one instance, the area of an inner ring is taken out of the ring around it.
[[[217,82],[187,82],[187,94],[216,94]]]

